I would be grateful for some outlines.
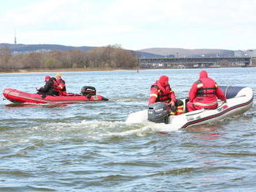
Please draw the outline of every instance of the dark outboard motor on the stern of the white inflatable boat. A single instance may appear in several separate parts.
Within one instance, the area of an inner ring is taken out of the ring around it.
[[[157,102],[148,107],[147,110],[147,120],[150,122],[161,123],[164,122],[168,124],[169,122],[169,111],[168,105],[166,103]]]

